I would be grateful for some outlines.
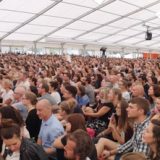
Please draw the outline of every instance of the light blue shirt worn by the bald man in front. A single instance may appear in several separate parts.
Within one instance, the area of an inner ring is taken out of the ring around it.
[[[42,141],[43,148],[50,148],[54,140],[64,134],[60,121],[52,115],[47,121],[42,121],[38,137]]]

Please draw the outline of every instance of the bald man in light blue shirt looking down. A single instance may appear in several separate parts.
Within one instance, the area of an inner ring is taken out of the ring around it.
[[[55,153],[52,147],[54,140],[64,134],[60,121],[52,113],[52,105],[47,99],[38,101],[36,105],[37,115],[42,119],[37,143],[42,145],[48,155]]]

